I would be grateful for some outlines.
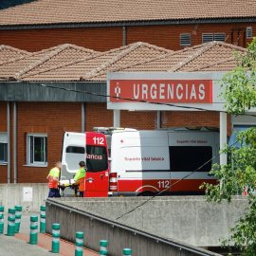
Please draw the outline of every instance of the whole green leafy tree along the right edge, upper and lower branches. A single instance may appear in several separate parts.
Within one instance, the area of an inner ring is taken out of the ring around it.
[[[226,101],[227,112],[235,116],[246,115],[256,107],[255,76],[256,38],[247,47],[246,54],[235,53],[237,67],[226,74],[221,81],[223,92],[220,97]],[[255,116],[256,118],[256,116]],[[203,184],[208,201],[229,202],[235,194],[242,194],[247,188],[248,208],[231,228],[231,236],[222,242],[223,247],[234,245],[247,256],[256,255],[256,128],[249,128],[237,135],[237,142],[243,147],[226,145],[221,154],[228,155],[227,165],[215,165],[210,171],[218,178],[217,185]]]

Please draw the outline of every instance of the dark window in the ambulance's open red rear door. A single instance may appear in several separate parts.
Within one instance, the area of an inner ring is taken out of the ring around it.
[[[107,149],[86,145],[86,167],[88,172],[101,172],[108,169]]]

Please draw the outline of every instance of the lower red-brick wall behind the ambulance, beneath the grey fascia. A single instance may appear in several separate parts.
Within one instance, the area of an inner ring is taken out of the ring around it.
[[[0,132],[7,132],[7,102],[0,102]],[[49,169],[61,159],[64,131],[82,131],[81,102],[17,102],[17,177],[18,183],[44,183]],[[11,183],[13,174],[13,103],[11,116]],[[186,120],[186,121],[185,121]],[[161,112],[161,127],[174,126],[214,126],[219,127],[216,112]],[[113,126],[113,111],[106,109],[106,103],[85,104],[85,130],[93,131],[95,126]],[[121,111],[120,126],[139,130],[157,128],[155,111]],[[230,135],[230,119],[228,130]],[[47,167],[27,165],[27,134],[47,134]],[[8,182],[8,167],[0,165],[0,183]]]

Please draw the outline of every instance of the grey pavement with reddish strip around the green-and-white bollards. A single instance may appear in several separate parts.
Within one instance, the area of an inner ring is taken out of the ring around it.
[[[59,253],[51,252],[52,237],[49,234],[38,233],[37,245],[31,245],[30,239],[30,216],[38,216],[38,228],[40,229],[40,214],[39,213],[25,213],[22,214],[21,225],[19,233],[15,233],[14,236],[8,236],[8,214],[4,217],[4,234],[0,234],[0,256],[9,255],[26,255],[26,256],[47,256],[47,255],[75,255],[75,245],[60,240]],[[39,230],[38,229],[38,230]],[[90,249],[83,248],[83,256],[96,256],[99,253]]]

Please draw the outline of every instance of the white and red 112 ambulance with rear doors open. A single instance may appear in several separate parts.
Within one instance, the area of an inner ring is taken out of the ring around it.
[[[96,127],[95,133],[64,133],[61,180],[86,161],[85,196],[203,194],[216,183],[219,132],[206,127],[154,131]],[[186,178],[185,178],[186,177]]]

